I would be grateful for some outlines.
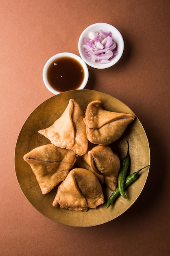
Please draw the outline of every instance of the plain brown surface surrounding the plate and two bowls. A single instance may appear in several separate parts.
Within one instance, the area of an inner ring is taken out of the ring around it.
[[[81,32],[95,22],[120,30],[121,60],[89,67],[87,89],[124,102],[148,136],[151,168],[133,206],[96,227],[70,227],[39,213],[15,177],[14,152],[26,118],[53,96],[42,70],[52,55],[78,54]],[[0,255],[86,256],[170,254],[170,1],[0,1]]]

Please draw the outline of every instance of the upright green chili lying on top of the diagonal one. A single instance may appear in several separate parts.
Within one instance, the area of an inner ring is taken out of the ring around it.
[[[124,157],[124,159],[121,162],[121,166],[120,166],[120,171],[118,174],[118,188],[120,191],[120,195],[122,195],[123,198],[127,198],[125,193],[124,193],[124,182],[126,179],[126,173],[127,173],[127,169],[129,167],[129,162],[130,162],[130,155],[129,155],[129,142],[127,141],[128,144],[128,149],[127,149],[127,154]]]

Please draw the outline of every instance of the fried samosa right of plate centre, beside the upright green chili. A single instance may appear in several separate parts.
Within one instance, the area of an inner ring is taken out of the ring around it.
[[[95,173],[101,184],[105,184],[111,190],[116,189],[120,159],[109,146],[95,146],[85,155],[78,157],[75,165],[82,168],[86,167]]]

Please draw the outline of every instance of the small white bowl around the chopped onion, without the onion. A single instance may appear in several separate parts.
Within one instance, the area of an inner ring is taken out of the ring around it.
[[[96,61],[96,62],[91,61],[90,58],[86,55],[87,53],[84,51],[84,47],[83,47],[83,44],[84,44],[83,39],[88,38],[89,32],[100,31],[100,29],[102,29],[106,32],[111,31],[112,38],[113,38],[114,42],[117,44],[116,50],[118,51],[118,55],[113,56],[113,58],[110,60],[110,62],[106,63],[106,64],[100,64],[99,61]],[[124,40],[122,38],[122,35],[118,31],[118,29],[116,29],[116,27],[113,27],[112,25],[107,24],[107,23],[99,22],[99,23],[90,25],[83,31],[83,33],[81,34],[81,36],[78,40],[78,51],[79,51],[81,58],[89,66],[98,68],[98,69],[104,69],[104,68],[111,67],[111,66],[115,65],[120,60],[120,58],[123,54],[123,51],[124,51]]]

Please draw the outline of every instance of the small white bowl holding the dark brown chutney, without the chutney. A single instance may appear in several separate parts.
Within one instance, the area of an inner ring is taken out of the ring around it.
[[[61,91],[57,91],[56,89],[52,88],[52,86],[50,85],[50,83],[48,82],[48,79],[47,79],[47,71],[48,71],[48,67],[49,65],[53,62],[53,61],[56,61],[57,58],[61,58],[61,57],[71,57],[71,58],[74,58],[76,61],[78,61],[81,66],[83,67],[83,70],[84,70],[84,79],[81,83],[81,85],[79,85],[78,88],[76,88],[76,90],[81,90],[81,89],[84,89],[85,88],[85,85],[87,84],[87,81],[89,79],[89,70],[87,68],[87,65],[86,63],[83,61],[82,58],[80,58],[79,56],[77,56],[76,54],[73,54],[73,53],[70,53],[70,52],[61,52],[59,54],[55,54],[54,56],[52,56],[47,62],[46,64],[44,65],[44,69],[43,69],[43,81],[44,81],[44,84],[46,85],[46,88],[52,92],[53,94],[59,94],[61,93]],[[70,89],[72,90],[72,89]],[[63,91],[62,91],[63,92]]]

